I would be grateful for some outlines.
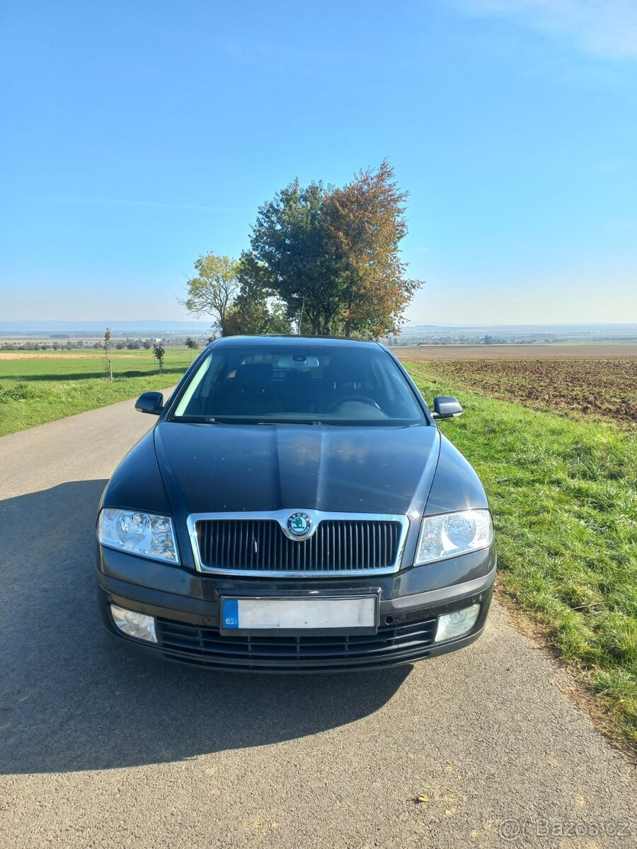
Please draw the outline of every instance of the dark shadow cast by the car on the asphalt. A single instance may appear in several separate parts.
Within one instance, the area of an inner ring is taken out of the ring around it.
[[[0,757],[6,773],[173,762],[346,725],[411,666],[274,676],[147,659],[104,631],[93,578],[106,481],[0,501]]]

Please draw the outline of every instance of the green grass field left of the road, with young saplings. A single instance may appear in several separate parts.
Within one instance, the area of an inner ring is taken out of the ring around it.
[[[134,398],[178,382],[190,351],[166,351],[159,373],[152,351],[112,351],[114,380],[104,379],[104,351],[0,352],[0,436]]]

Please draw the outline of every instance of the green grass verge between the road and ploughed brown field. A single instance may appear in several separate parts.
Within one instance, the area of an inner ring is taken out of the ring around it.
[[[637,744],[637,438],[457,392],[405,363],[423,396],[465,408],[441,430],[473,464],[497,530],[499,582]]]

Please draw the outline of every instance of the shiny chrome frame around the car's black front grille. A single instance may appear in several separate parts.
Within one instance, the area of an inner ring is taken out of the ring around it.
[[[296,539],[296,537],[290,537],[290,534],[287,531],[286,522],[287,518],[291,513],[307,513],[307,515],[312,519],[312,528],[313,530],[307,537],[302,537],[302,539]],[[286,537],[294,540],[296,543],[302,543],[307,539],[310,539],[316,531],[317,526],[324,519],[336,519],[343,521],[383,521],[383,522],[397,522],[401,526],[400,536],[398,537],[398,546],[396,558],[394,559],[391,566],[386,566],[382,569],[342,569],[342,570],[330,570],[330,571],[281,571],[281,570],[258,570],[258,569],[211,569],[209,566],[205,566],[201,563],[200,554],[199,554],[199,542],[197,540],[197,531],[196,524],[201,520],[275,520],[279,522],[282,530],[285,533]],[[409,531],[409,519],[407,516],[403,515],[392,515],[387,513],[327,513],[323,510],[311,510],[304,507],[286,509],[286,510],[273,510],[271,512],[263,512],[263,513],[192,513],[189,515],[187,520],[188,525],[188,533],[190,537],[190,545],[193,549],[193,557],[194,557],[194,565],[198,572],[206,572],[207,574],[213,575],[245,575],[248,577],[277,577],[277,578],[320,578],[320,577],[338,577],[345,575],[392,575],[394,572],[397,572],[400,569],[400,563],[403,558],[403,550],[405,547],[405,542],[407,541],[407,531]]]

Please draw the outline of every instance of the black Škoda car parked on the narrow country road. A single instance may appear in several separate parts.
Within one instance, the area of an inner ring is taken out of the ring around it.
[[[482,633],[496,556],[482,484],[376,342],[217,340],[99,505],[110,633],[217,670],[373,669]]]

